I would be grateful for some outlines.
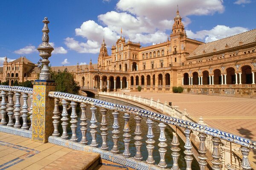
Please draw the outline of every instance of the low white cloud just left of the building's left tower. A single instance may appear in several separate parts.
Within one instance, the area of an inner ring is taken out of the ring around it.
[[[78,53],[99,53],[99,42],[87,40],[87,42],[79,42],[74,38],[67,37],[64,42],[68,48],[77,51]]]

